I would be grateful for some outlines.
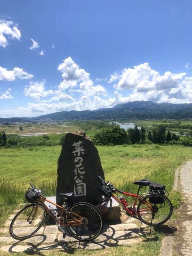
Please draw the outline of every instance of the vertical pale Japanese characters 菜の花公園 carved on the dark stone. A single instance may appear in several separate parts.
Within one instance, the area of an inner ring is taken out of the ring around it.
[[[74,142],[72,146],[74,146],[75,150],[72,152],[76,158],[74,159],[75,170],[74,170],[74,196],[86,196],[86,184],[83,182],[84,179],[84,167],[83,167],[83,158],[82,155],[85,154],[85,150],[81,145],[83,142],[79,140],[79,142]]]

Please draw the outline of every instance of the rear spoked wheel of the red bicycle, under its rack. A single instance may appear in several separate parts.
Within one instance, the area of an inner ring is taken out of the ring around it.
[[[156,226],[165,223],[171,217],[173,206],[166,196],[149,195],[142,200],[148,204],[140,202],[137,207],[138,217],[143,223]]]

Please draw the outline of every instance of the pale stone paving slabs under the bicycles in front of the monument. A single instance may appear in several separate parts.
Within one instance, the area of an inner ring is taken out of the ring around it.
[[[4,229],[4,231],[8,230]],[[100,236],[90,243],[80,242],[80,249],[96,250],[117,245],[131,245],[140,242],[141,236],[142,234],[133,221],[110,226],[105,224]],[[79,246],[79,241],[68,233],[63,238],[56,225],[42,227],[34,236],[23,241],[15,240],[6,235],[0,237],[0,242],[2,243],[0,250],[5,252],[34,252],[34,250],[64,249],[67,246],[78,248]]]

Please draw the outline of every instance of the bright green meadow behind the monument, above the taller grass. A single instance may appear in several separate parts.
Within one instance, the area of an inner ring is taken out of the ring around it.
[[[98,146],[107,180],[123,183],[148,178],[172,188],[177,166],[192,158],[192,150],[182,146],[127,145]],[[0,150],[0,178],[28,185],[31,180],[55,180],[61,146]]]

